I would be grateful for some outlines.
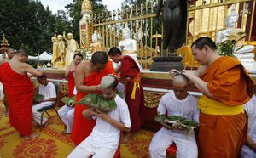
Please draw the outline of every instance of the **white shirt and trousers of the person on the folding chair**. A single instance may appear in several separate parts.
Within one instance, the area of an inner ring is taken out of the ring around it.
[[[44,99],[52,99],[56,98],[56,90],[55,90],[55,85],[52,82],[48,82],[46,86],[40,85],[39,87],[39,94],[44,95]],[[55,101],[47,101],[47,102],[42,102],[39,104],[34,104],[32,106],[32,113],[33,113],[33,119],[40,124],[41,122],[41,112],[38,112],[39,109],[50,106],[54,104]],[[47,118],[43,116],[43,124],[47,121]]]

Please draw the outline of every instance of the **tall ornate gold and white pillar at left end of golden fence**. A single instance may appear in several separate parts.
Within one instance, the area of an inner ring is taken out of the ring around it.
[[[83,17],[79,22],[80,46],[81,48],[84,48],[87,50],[90,46],[91,36],[92,36],[92,25],[90,22],[92,8],[91,8],[90,0],[83,1],[81,14],[83,14]]]

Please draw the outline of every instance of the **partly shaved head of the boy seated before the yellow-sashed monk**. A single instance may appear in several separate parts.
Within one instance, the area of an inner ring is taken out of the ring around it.
[[[177,99],[183,100],[188,96],[189,80],[183,74],[173,76],[172,80],[173,92]]]

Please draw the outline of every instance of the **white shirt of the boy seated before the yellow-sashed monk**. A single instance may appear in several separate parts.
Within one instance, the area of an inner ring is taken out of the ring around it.
[[[197,108],[197,98],[189,94],[185,99],[179,100],[174,92],[166,93],[160,99],[157,111],[168,116],[182,116],[199,122],[199,109]]]

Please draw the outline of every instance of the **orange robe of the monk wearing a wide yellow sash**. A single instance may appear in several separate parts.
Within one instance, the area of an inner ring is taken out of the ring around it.
[[[234,107],[253,96],[253,81],[241,63],[220,57],[202,74],[201,79],[216,100]],[[247,115],[209,115],[201,112],[198,135],[199,157],[239,157],[247,137]]]

